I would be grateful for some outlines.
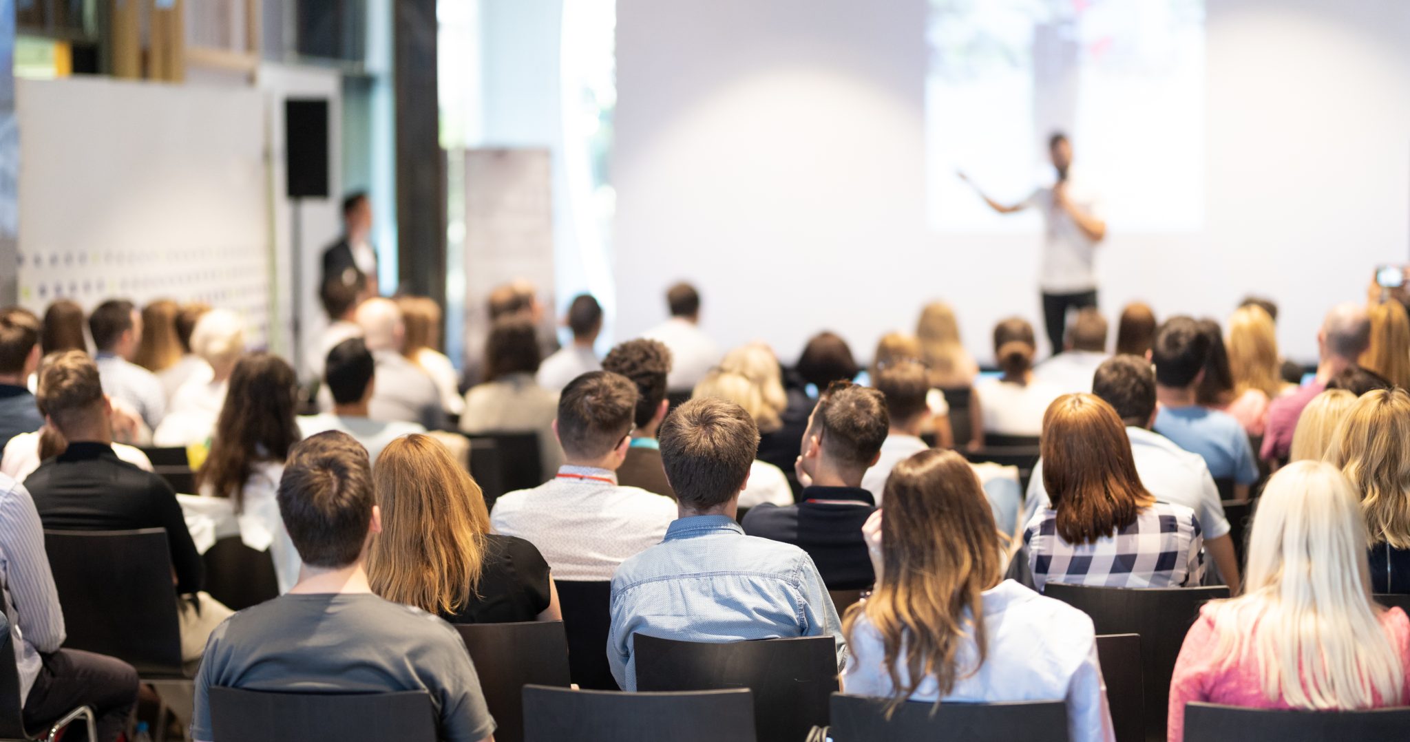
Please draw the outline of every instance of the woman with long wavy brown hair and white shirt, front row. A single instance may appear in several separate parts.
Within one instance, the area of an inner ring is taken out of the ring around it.
[[[1003,580],[994,516],[963,457],[931,449],[897,464],[885,516],[864,532],[877,584],[843,618],[847,693],[893,708],[1062,700],[1070,739],[1112,739],[1091,619]]]

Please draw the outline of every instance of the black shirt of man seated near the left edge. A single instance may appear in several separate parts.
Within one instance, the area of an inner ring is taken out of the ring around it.
[[[176,494],[165,480],[113,453],[106,443],[69,443],[24,480],[44,528],[52,530],[135,530],[165,528],[176,567],[176,591],[202,584],[200,554],[186,530]]]

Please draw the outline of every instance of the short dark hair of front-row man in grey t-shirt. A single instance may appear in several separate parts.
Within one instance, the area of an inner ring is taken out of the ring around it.
[[[296,443],[279,478],[278,502],[283,528],[305,564],[352,564],[362,554],[376,502],[367,449],[341,430]]]

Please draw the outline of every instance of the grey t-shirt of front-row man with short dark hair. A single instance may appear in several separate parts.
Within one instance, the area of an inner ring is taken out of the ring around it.
[[[371,594],[282,595],[210,635],[196,674],[195,739],[214,739],[212,686],[288,693],[427,691],[440,738],[485,739],[495,721],[450,624]]]

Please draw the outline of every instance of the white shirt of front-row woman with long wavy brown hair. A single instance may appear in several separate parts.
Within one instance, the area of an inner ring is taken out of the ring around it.
[[[955,655],[960,673],[945,701],[1066,701],[1069,739],[1115,739],[1107,686],[1097,663],[1097,638],[1087,614],[1012,580],[986,590],[983,609],[988,642],[984,664],[970,671],[979,653],[966,633]],[[909,684],[904,655],[895,666],[901,683]],[[852,662],[842,673],[842,684],[859,695],[890,698],[894,693],[881,636],[866,614],[852,628]],[[926,677],[911,700],[940,700],[935,677]]]

